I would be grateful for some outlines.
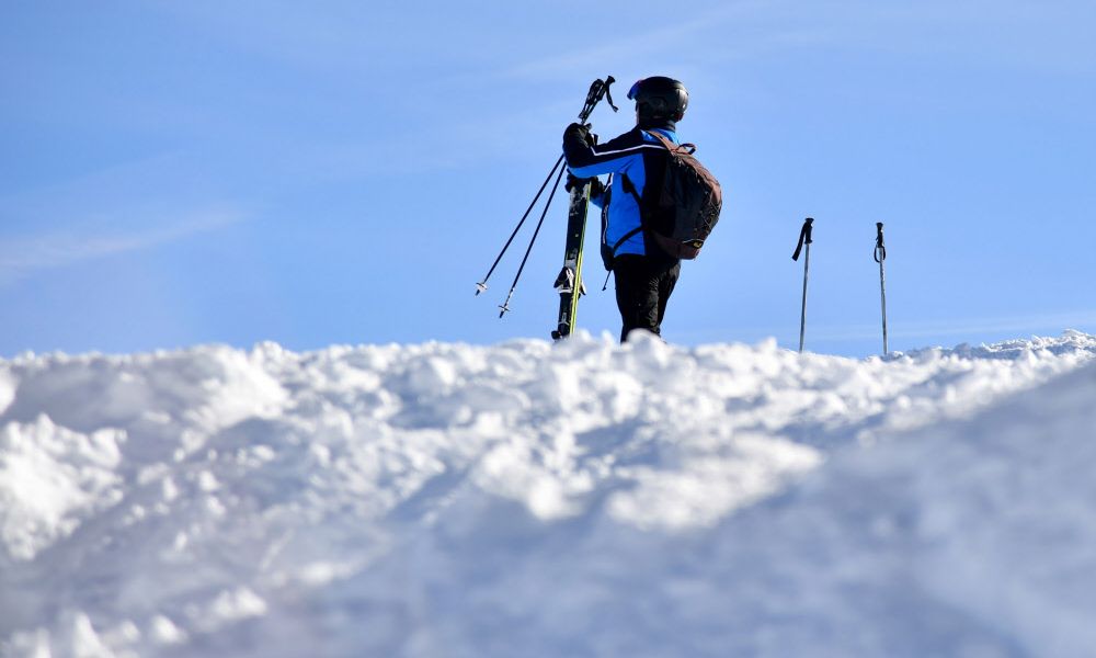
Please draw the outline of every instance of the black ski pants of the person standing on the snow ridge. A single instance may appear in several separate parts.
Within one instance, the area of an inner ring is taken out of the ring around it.
[[[647,329],[661,336],[666,302],[677,284],[681,261],[627,253],[613,262],[616,277],[617,308],[624,326],[620,342],[632,329]]]

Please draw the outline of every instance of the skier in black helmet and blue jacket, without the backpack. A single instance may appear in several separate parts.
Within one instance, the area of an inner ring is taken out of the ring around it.
[[[583,124],[572,123],[563,132],[568,185],[609,174],[608,189],[594,180],[591,201],[602,207],[602,259],[615,275],[620,342],[636,329],[661,336],[666,303],[681,273],[681,261],[643,230],[642,200],[649,182],[658,192],[654,188],[662,181],[667,158],[666,148],[651,133],[680,144],[677,122],[688,106],[688,92],[680,81],[655,76],[636,82],[628,99],[636,101],[636,127],[624,135],[596,144]]]

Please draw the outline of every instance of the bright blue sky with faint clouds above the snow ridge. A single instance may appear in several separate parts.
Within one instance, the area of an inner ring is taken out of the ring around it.
[[[0,10],[0,354],[547,339],[563,203],[473,297],[590,82],[692,93],[724,185],[672,342],[1096,332],[1096,3],[24,2]],[[532,227],[530,227],[532,228]],[[591,240],[593,241],[593,240]],[[593,245],[595,246],[595,245]],[[579,324],[616,333],[590,250]]]

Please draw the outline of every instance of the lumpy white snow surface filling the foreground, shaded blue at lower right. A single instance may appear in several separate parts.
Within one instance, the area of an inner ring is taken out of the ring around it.
[[[1092,655],[1094,354],[0,361],[0,655]]]

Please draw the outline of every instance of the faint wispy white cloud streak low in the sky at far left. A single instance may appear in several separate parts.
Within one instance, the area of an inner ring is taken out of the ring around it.
[[[42,270],[153,249],[196,234],[225,228],[244,218],[240,211],[213,208],[144,231],[104,235],[90,230],[66,230],[7,238],[0,243],[0,285],[11,284]]]

